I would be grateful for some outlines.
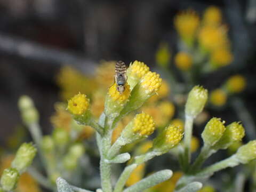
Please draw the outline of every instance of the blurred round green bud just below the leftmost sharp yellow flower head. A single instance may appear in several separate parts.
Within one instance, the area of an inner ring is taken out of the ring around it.
[[[58,147],[64,147],[69,142],[69,134],[67,131],[55,128],[52,134],[53,140]]]

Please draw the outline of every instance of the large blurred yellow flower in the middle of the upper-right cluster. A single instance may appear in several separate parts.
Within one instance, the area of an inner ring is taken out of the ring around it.
[[[203,26],[198,34],[198,41],[205,51],[229,47],[226,26]]]

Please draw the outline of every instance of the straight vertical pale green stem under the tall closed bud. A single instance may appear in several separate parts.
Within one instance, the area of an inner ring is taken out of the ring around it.
[[[191,116],[186,115],[186,121],[185,121],[185,136],[184,136],[184,167],[183,170],[187,171],[188,170],[188,166],[190,163],[190,159],[191,159],[191,138],[192,138],[192,134],[193,134],[193,121],[194,118]]]

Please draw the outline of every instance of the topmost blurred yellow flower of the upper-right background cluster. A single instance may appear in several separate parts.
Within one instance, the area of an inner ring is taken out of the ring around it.
[[[204,12],[203,23],[204,25],[220,25],[222,20],[221,10],[217,6],[209,6]]]

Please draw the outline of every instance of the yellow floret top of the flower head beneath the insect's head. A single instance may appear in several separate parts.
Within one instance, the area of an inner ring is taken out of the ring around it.
[[[130,97],[130,85],[125,84],[125,89],[123,93],[120,93],[117,90],[117,85],[114,83],[109,87],[108,94],[113,99],[113,101],[117,101],[118,103],[124,103]]]

